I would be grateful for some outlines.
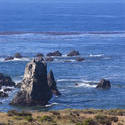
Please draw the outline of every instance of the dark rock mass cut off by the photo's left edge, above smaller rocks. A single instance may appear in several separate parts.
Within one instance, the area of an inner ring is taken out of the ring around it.
[[[0,73],[0,86],[15,86],[15,83],[12,81],[11,77]]]

